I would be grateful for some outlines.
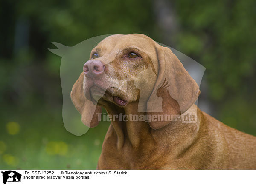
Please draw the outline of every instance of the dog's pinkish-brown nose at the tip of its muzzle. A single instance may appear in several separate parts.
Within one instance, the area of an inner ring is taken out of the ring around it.
[[[86,77],[97,77],[103,73],[105,65],[99,60],[89,60],[84,64],[84,74]]]

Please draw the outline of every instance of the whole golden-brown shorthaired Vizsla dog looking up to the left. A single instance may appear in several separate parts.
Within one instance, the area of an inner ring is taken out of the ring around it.
[[[93,48],[71,98],[90,127],[98,125],[101,107],[109,115],[139,115],[112,117],[98,169],[256,169],[256,137],[202,112],[194,105],[199,94],[169,48],[129,34]],[[180,119],[186,115],[192,122]]]

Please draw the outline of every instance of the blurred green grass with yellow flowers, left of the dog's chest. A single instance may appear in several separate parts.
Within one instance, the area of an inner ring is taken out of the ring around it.
[[[96,169],[109,123],[101,122],[86,134],[75,136],[64,128],[61,108],[46,110],[16,113],[11,119],[8,115],[12,112],[5,111],[1,117],[0,169]],[[6,128],[10,121],[20,125],[15,135]]]

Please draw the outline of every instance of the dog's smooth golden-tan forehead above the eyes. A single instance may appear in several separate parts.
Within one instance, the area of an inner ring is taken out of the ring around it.
[[[136,48],[140,51],[145,52],[150,57],[156,55],[156,45],[158,45],[154,40],[150,37],[141,37],[137,35],[111,35],[102,40],[95,48],[103,51],[104,53],[116,54],[119,51],[127,48]]]

